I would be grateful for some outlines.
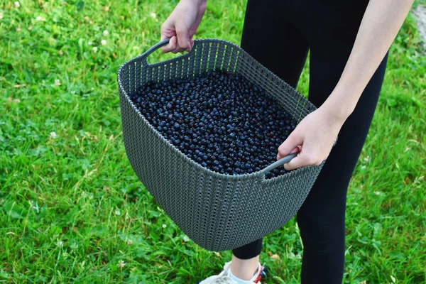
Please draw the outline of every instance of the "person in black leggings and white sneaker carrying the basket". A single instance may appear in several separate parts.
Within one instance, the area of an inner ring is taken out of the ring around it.
[[[310,50],[309,99],[318,108],[278,148],[295,169],[327,158],[297,212],[302,283],[342,283],[346,192],[371,125],[388,49],[413,0],[249,0],[241,48],[296,87]],[[190,51],[207,0],[181,0],[161,27],[163,52]],[[334,138],[339,141],[332,148]],[[253,224],[254,226],[254,224]],[[207,283],[260,283],[262,239],[234,249]],[[222,282],[220,281],[222,280]],[[215,282],[217,281],[217,282]]]

